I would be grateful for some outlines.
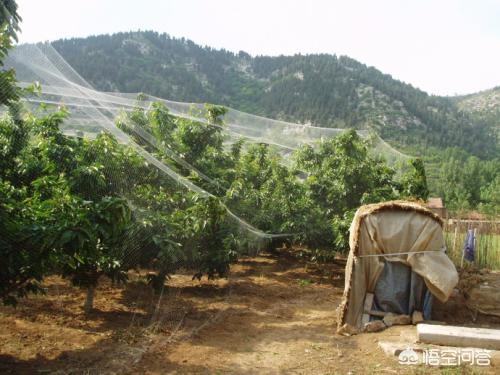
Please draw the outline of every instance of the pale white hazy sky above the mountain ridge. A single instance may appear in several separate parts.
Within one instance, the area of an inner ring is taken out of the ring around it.
[[[500,0],[17,2],[21,42],[155,30],[252,55],[348,55],[434,94],[500,85]]]

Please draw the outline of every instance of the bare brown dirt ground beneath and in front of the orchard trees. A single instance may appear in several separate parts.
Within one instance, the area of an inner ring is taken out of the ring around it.
[[[45,295],[0,307],[1,374],[427,374],[488,369],[408,367],[379,341],[414,327],[335,334],[344,264],[316,266],[295,255],[243,258],[227,280],[176,275],[160,295],[144,272],[97,290],[86,316],[84,293],[58,277]],[[467,317],[464,315],[464,319]]]

